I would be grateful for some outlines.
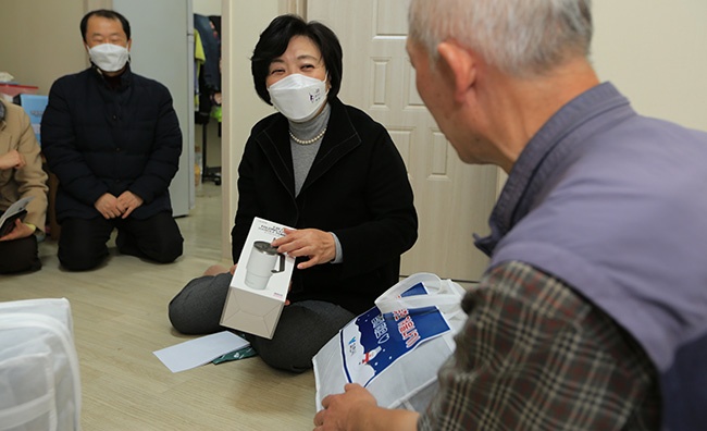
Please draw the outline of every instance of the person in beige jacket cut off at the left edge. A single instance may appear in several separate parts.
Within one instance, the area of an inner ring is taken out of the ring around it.
[[[18,199],[32,197],[27,214],[0,237],[0,274],[41,268],[36,234],[47,219],[47,173],[27,113],[0,100],[0,214]]]

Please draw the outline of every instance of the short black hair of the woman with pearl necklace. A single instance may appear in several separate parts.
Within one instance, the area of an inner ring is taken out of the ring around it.
[[[297,15],[277,16],[260,34],[250,58],[250,70],[258,96],[268,104],[272,104],[265,84],[270,63],[287,50],[289,39],[294,36],[310,38],[322,53],[331,85],[327,99],[332,100],[342,87],[342,45],[334,32],[324,24],[315,21],[308,23]]]

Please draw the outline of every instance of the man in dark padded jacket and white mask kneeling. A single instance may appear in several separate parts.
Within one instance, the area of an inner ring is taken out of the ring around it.
[[[183,246],[169,193],[182,152],[172,96],[133,73],[125,16],[97,10],[79,27],[91,65],[54,82],[41,120],[59,178],[59,260],[71,271],[98,267],[117,229],[120,253],[172,262]]]

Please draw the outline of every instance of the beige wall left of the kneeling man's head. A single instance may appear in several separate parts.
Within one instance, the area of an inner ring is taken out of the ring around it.
[[[78,23],[84,0],[3,0],[0,71],[47,95],[60,76],[88,65]]]

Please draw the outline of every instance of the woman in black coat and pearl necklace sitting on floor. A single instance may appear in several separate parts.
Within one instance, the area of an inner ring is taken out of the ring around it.
[[[238,262],[253,218],[286,226],[272,243],[296,258],[292,290],[272,340],[246,334],[270,366],[294,372],[356,315],[397,283],[418,218],[400,153],[383,125],[337,97],[342,47],[325,25],[273,20],[251,59],[256,91],[278,112],[258,122],[238,167],[231,233]],[[193,280],[170,303],[182,333],[222,331],[232,275]]]

